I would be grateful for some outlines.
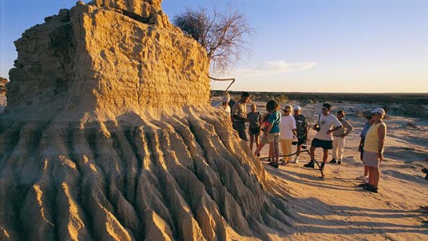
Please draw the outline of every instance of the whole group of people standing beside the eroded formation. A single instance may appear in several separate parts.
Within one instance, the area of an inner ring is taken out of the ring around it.
[[[231,116],[233,128],[237,131],[241,139],[248,142],[246,136],[245,123],[249,122],[250,150],[253,151],[253,144],[256,149],[254,154],[260,157],[260,151],[264,145],[269,144],[269,165],[278,168],[280,161],[282,164],[289,164],[292,160],[291,148],[297,145],[295,159],[293,163],[299,162],[302,148],[306,148],[309,133],[307,118],[301,114],[300,106],[284,106],[280,113],[280,106],[275,100],[266,103],[268,113],[261,115],[257,112],[257,106],[251,105],[251,112],[247,113],[246,103],[249,102],[250,95],[242,93],[241,98],[230,108],[230,97],[222,99],[220,108],[224,109],[228,116]],[[293,114],[292,114],[293,113]],[[323,156],[320,169],[324,169],[329,156],[329,150],[333,152],[331,164],[342,164],[344,156],[345,137],[353,131],[353,126],[344,119],[345,113],[339,110],[336,115],[331,114],[331,105],[324,103],[321,114],[318,115],[317,122],[312,126],[317,133],[311,141],[309,154],[311,160],[304,164],[307,168],[315,167],[315,150],[322,148]],[[375,108],[366,116],[367,123],[364,125],[361,140],[358,147],[360,158],[364,163],[364,175],[357,177],[364,182],[360,185],[373,193],[378,193],[378,183],[380,179],[379,164],[383,160],[383,150],[387,126],[383,122],[385,110]],[[260,135],[262,135],[260,139]],[[284,159],[279,159],[281,146]]]

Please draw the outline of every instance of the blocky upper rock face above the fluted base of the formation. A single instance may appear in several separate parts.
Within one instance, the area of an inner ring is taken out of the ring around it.
[[[143,23],[111,10],[109,2],[61,10],[15,42],[10,117],[26,113],[22,119],[114,119],[130,111],[208,103],[206,53],[171,26],[166,15],[158,15],[160,2],[130,1],[134,5],[126,8],[121,1],[111,1],[127,11],[147,6],[168,24]]]

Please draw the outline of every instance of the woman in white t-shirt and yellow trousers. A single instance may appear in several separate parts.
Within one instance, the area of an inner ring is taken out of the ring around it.
[[[293,142],[294,136],[296,135],[295,131],[297,127],[295,126],[295,119],[291,115],[291,106],[285,106],[282,110],[282,119],[280,123],[280,142],[282,155],[291,154],[291,142]],[[282,160],[283,164],[289,164],[291,161],[291,156],[284,157]]]

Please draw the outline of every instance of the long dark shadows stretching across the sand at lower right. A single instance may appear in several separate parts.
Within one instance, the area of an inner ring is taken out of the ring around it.
[[[268,169],[268,168],[266,168]],[[274,169],[269,168],[269,172],[275,172],[275,175],[283,178],[289,184],[299,183],[310,186],[318,186],[324,192],[331,191],[353,191],[358,195],[362,191],[358,188],[358,180],[324,178],[320,179],[319,172],[314,170],[313,174],[297,173],[290,168]],[[333,184],[325,183],[326,180],[337,181]],[[344,184],[344,182],[348,182]],[[352,182],[356,182],[355,186]],[[351,182],[351,183],[349,183]],[[358,206],[341,206],[327,204],[315,197],[282,197],[288,200],[290,205],[290,214],[295,221],[295,233],[325,233],[325,234],[373,234],[380,235],[385,233],[416,233],[428,238],[428,226],[422,223],[411,225],[414,221],[409,219],[425,220],[426,215],[420,213],[420,210],[395,210],[395,209],[369,209]],[[371,199],[367,199],[369,202]],[[357,200],[356,200],[357,201]],[[364,206],[364,205],[360,205]],[[407,218],[407,221],[403,219]],[[350,236],[349,239],[358,239]],[[404,238],[404,236],[403,236]],[[422,238],[423,240],[423,238]]]

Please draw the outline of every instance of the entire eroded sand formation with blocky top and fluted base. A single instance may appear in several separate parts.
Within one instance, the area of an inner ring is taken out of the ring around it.
[[[161,1],[78,2],[15,42],[0,240],[276,240],[292,226]]]

